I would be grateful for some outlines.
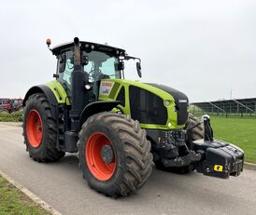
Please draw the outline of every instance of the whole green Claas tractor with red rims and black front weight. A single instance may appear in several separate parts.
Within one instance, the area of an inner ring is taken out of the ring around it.
[[[126,60],[136,61],[141,76],[140,59],[78,37],[50,51],[57,58],[55,80],[31,87],[23,101],[24,143],[34,160],[78,153],[90,187],[110,196],[139,190],[153,163],[223,179],[243,170],[243,151],[214,140],[209,117],[189,114],[184,93],[124,79]]]

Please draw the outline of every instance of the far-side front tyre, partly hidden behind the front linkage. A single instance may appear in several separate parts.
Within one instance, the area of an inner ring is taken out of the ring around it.
[[[192,129],[190,129],[190,128],[192,128]],[[192,141],[200,140],[205,137],[204,124],[200,122],[199,118],[195,117],[191,113],[189,114],[189,118],[185,125],[185,129],[187,130],[187,137],[188,137],[186,144],[189,149],[191,149],[191,147],[192,147]],[[177,173],[177,174],[187,174],[196,168],[194,162],[192,162],[190,165],[187,165],[184,167],[166,168],[166,167],[164,167],[164,164],[162,163],[161,159],[155,161],[155,167],[158,169],[161,169],[163,171],[169,171],[169,172],[173,172],[173,173]]]

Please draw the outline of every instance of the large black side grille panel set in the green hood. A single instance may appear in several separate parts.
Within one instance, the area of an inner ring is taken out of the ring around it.
[[[164,101],[146,89],[129,87],[132,118],[142,124],[165,125],[167,110]]]

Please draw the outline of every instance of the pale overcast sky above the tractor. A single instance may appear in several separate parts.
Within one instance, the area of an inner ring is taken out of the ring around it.
[[[143,82],[190,101],[256,97],[255,0],[0,0],[1,97],[51,80],[52,46],[80,40],[142,59]],[[138,79],[130,65],[126,77]],[[231,95],[232,90],[232,95]]]

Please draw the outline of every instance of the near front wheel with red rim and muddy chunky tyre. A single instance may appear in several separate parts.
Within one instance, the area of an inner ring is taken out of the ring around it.
[[[78,157],[90,187],[110,196],[134,194],[149,179],[151,145],[146,131],[129,116],[92,115],[79,133]],[[108,161],[103,156],[108,151]]]

